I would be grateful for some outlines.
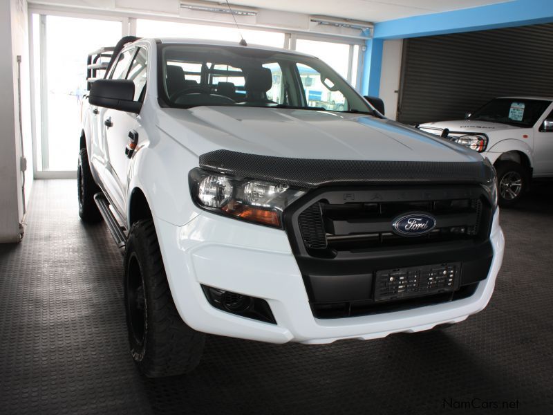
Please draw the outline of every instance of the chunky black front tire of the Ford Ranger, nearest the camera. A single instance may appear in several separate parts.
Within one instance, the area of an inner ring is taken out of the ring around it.
[[[191,329],[178,314],[151,219],[136,222],[129,232],[124,300],[131,356],[142,374],[175,376],[198,366],[205,334]]]

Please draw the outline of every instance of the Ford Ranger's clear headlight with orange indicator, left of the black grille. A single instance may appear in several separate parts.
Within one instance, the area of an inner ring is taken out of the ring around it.
[[[305,190],[192,169],[192,199],[200,208],[243,221],[282,228],[282,212]]]

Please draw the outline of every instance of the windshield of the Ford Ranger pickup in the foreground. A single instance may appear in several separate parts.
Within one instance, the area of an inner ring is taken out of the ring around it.
[[[373,113],[320,59],[233,46],[160,45],[160,98],[168,107],[278,107]]]

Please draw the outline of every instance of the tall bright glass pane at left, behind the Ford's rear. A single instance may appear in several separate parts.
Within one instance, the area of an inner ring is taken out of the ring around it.
[[[41,82],[35,84],[42,118],[37,122],[42,126],[41,142],[37,143],[42,153],[39,167],[75,171],[81,102],[86,93],[86,57],[102,46],[115,46],[121,39],[121,22],[38,15],[33,15],[33,21],[37,22],[33,50],[37,53],[41,44],[46,50],[44,55],[35,55],[35,69],[44,69]]]

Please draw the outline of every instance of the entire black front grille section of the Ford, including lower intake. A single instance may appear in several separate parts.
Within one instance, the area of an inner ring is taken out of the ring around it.
[[[431,232],[395,233],[395,219],[415,212],[435,218]],[[493,257],[492,215],[480,185],[344,186],[309,192],[285,211],[284,223],[313,315],[325,318],[409,309],[474,293]],[[423,271],[438,265],[455,268],[453,283],[422,290]],[[390,291],[388,284],[382,294],[386,270],[405,273],[408,285]],[[416,289],[409,286],[410,272],[417,276]]]

